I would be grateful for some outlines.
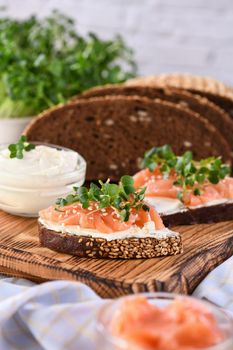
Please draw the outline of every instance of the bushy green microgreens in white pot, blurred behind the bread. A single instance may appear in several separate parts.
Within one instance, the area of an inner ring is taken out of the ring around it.
[[[132,51],[120,36],[80,36],[75,22],[58,11],[42,20],[0,18],[0,142],[15,141],[44,109],[135,73]]]

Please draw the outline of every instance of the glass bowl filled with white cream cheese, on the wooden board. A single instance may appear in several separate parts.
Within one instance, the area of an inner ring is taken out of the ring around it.
[[[0,147],[0,209],[15,215],[38,216],[39,210],[72,192],[85,181],[86,162],[77,152],[34,144],[23,158],[10,158]]]

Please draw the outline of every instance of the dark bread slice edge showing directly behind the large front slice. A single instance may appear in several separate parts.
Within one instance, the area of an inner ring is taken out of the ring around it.
[[[76,96],[72,100],[110,95],[145,96],[151,99],[161,99],[163,101],[176,103],[181,107],[189,108],[208,119],[221,132],[233,150],[233,119],[231,119],[224,110],[210,102],[208,99],[181,89],[115,84],[92,88],[83,94]]]

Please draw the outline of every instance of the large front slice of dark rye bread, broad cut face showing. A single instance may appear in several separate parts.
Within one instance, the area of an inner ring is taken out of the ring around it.
[[[230,148],[206,119],[168,102],[111,96],[80,100],[45,111],[25,130],[29,141],[78,151],[87,160],[87,180],[119,180],[138,171],[145,150],[170,144],[194,158],[222,155]]]

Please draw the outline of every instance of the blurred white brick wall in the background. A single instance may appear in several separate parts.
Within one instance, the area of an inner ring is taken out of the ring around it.
[[[233,0],[0,0],[24,18],[57,8],[81,33],[121,33],[135,50],[140,74],[184,71],[233,85]]]

